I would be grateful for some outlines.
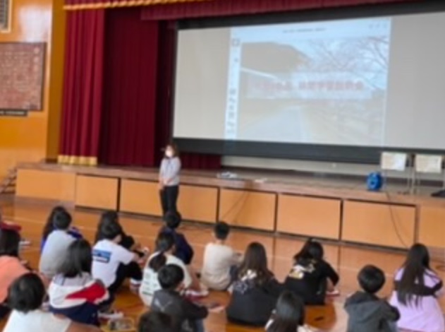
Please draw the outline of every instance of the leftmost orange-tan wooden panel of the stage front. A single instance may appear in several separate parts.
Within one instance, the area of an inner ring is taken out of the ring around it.
[[[53,170],[18,170],[16,196],[56,202],[75,200],[75,173]]]

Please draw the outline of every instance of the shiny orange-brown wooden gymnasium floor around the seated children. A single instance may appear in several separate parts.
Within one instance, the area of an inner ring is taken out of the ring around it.
[[[1,198],[1,197],[0,197]],[[51,209],[51,206],[33,204],[14,204],[11,199],[2,198],[0,206],[4,211],[6,220],[11,220],[23,226],[23,236],[32,241],[29,248],[23,249],[23,259],[30,261],[32,267],[37,267],[39,259],[39,239],[42,232],[44,220]],[[79,227],[87,239],[92,239],[97,225],[98,212],[95,211],[74,211],[75,225]],[[121,223],[126,232],[133,235],[143,245],[153,248],[161,223],[159,220],[135,218],[123,216]],[[202,251],[205,244],[212,239],[211,227],[195,223],[184,223],[181,231],[185,233],[195,249],[195,259],[193,266],[199,269],[202,264]],[[260,232],[248,230],[233,230],[228,243],[238,251],[243,251],[252,241],[261,242],[267,249],[269,257],[269,267],[276,273],[279,280],[283,280],[291,264],[291,257],[302,245],[302,240],[284,235],[273,236]],[[317,328],[317,331],[346,331],[347,316],[343,311],[343,303],[346,295],[357,288],[355,276],[359,269],[367,264],[373,263],[386,272],[387,283],[380,294],[388,296],[391,291],[392,273],[401,265],[403,253],[396,251],[384,251],[379,249],[341,246],[337,244],[325,244],[327,260],[339,271],[341,276],[341,296],[336,297],[324,307],[307,308],[307,323]],[[434,262],[433,266],[439,266],[439,262]],[[441,278],[445,273],[440,273]],[[207,301],[218,301],[221,304],[228,302],[228,295],[224,292],[212,292]],[[445,300],[441,300],[442,308],[445,309]],[[145,308],[137,295],[132,294],[124,287],[116,300],[116,307],[123,310],[128,316],[137,319],[138,315],[145,312]],[[4,322],[0,324],[3,326]],[[209,332],[245,332],[264,331],[261,328],[246,328],[235,326],[226,322],[224,312],[221,314],[210,314],[206,321]]]

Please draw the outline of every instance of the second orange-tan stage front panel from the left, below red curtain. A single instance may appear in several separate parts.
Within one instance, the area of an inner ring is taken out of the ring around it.
[[[75,180],[75,205],[117,210],[118,184],[119,179],[115,177],[78,175]]]

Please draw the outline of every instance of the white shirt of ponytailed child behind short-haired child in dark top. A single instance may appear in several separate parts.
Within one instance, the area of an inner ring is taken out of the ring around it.
[[[159,280],[157,279],[157,272],[155,272],[152,268],[150,268],[150,261],[154,256],[159,255],[159,253],[155,252],[150,256],[150,258],[147,261],[147,264],[144,268],[144,276],[142,278],[142,284],[139,288],[139,295],[144,304],[148,307],[152,305],[153,295],[154,292],[161,289],[161,285],[159,285]],[[181,259],[178,259],[176,256],[166,254],[166,264],[173,264],[177,265],[184,271],[184,285],[186,288],[190,287],[192,285],[192,276],[188,272],[187,266],[181,261]]]

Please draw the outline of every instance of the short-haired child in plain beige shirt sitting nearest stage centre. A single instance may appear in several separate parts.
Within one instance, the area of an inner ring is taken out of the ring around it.
[[[233,271],[243,257],[226,245],[230,226],[224,222],[214,227],[214,242],[207,244],[204,251],[201,282],[213,290],[226,290],[231,284]]]

